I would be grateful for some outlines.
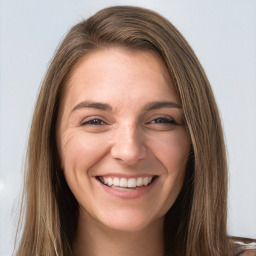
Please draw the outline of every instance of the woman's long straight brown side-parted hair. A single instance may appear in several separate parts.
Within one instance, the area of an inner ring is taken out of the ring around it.
[[[56,143],[60,101],[81,57],[113,45],[151,50],[162,57],[191,138],[183,189],[166,215],[166,255],[229,255],[226,153],[208,79],[193,50],[169,21],[150,10],[128,6],[103,9],[75,25],[52,59],[31,124],[24,220],[20,220],[23,233],[15,255],[72,255],[78,205],[60,168]]]

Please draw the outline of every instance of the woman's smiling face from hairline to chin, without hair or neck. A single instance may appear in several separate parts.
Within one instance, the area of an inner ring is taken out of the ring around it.
[[[62,107],[58,147],[80,218],[123,231],[162,222],[181,190],[190,140],[161,58],[116,47],[86,55]]]

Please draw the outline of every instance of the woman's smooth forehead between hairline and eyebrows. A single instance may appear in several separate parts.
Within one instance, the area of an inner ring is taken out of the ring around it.
[[[104,48],[84,56],[73,68],[67,83],[69,101],[113,100],[120,96],[169,97],[179,101],[162,58],[153,51]],[[164,99],[163,99],[164,100]]]

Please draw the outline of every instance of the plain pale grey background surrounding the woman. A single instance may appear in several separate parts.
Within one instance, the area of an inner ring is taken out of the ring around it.
[[[256,237],[256,1],[0,2],[0,256],[11,254],[36,95],[56,46],[75,23],[110,5],[167,17],[212,84],[228,148],[229,234]]]

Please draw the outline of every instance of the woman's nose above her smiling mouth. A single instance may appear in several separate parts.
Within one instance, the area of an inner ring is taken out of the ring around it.
[[[133,125],[119,127],[116,130],[111,155],[126,165],[135,165],[147,156],[144,136]]]

